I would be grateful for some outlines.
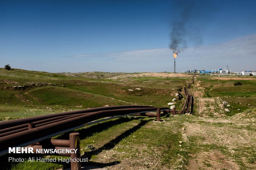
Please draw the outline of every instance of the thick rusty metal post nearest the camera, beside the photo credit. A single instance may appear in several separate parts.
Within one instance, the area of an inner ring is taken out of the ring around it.
[[[77,149],[76,153],[71,154],[71,170],[81,170],[81,153],[80,153],[80,137],[79,133],[70,133],[70,149]],[[78,159],[78,161],[76,161]],[[74,160],[74,161],[72,161]]]

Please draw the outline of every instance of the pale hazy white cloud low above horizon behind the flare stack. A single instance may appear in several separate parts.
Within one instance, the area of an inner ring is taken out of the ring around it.
[[[142,72],[173,71],[173,54],[168,48],[138,49],[113,53],[78,54],[68,57],[79,60],[80,71]],[[189,47],[176,58],[176,71],[218,69],[256,70],[256,35],[248,35],[222,44]],[[72,71],[72,70],[71,70]]]

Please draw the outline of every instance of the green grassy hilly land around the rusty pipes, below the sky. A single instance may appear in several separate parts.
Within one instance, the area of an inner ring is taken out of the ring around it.
[[[175,98],[178,86],[187,86],[192,76],[0,69],[0,120],[111,105],[169,107],[167,103]],[[165,116],[161,122],[154,117],[126,116],[76,130],[81,134],[82,157],[89,159],[83,165],[109,170],[256,169],[256,79],[195,78],[190,89],[195,99],[193,116]],[[242,85],[234,86],[238,81]],[[184,102],[176,101],[176,109],[182,109]],[[67,139],[68,134],[58,138]],[[0,166],[48,170],[69,164],[5,161]]]

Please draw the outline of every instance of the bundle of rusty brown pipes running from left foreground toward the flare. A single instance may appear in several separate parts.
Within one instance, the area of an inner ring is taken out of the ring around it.
[[[189,83],[189,88],[190,84],[194,84],[194,76],[192,83]],[[183,90],[187,98],[182,111],[160,108],[161,111],[181,114],[190,111],[190,113],[192,113],[193,96],[186,87],[184,87]],[[0,156],[7,153],[6,150],[8,147],[26,147],[29,144],[45,140],[47,137],[49,138],[76,128],[87,126],[89,122],[97,122],[96,120],[98,119],[109,116],[115,118],[127,114],[136,116],[156,116],[154,113],[147,112],[156,112],[157,109],[158,107],[137,105],[96,107],[0,122]],[[28,123],[33,123],[33,128],[29,128]]]

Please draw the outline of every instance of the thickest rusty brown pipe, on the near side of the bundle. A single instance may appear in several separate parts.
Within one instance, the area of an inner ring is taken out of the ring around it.
[[[169,108],[161,108],[169,109]],[[28,141],[35,141],[40,137],[50,135],[52,133],[58,133],[65,129],[73,128],[85,123],[95,121],[109,116],[118,116],[123,114],[132,114],[140,112],[156,112],[157,107],[152,106],[137,106],[133,108],[124,109],[112,109],[112,110],[101,110],[97,112],[87,112],[70,119],[65,119],[55,123],[46,124],[43,126],[35,127],[32,129],[24,130],[18,133],[9,134],[0,137],[0,151],[8,149],[8,147],[20,146],[20,144],[27,143]],[[40,142],[40,141],[37,141]],[[25,147],[25,146],[24,146]]]

